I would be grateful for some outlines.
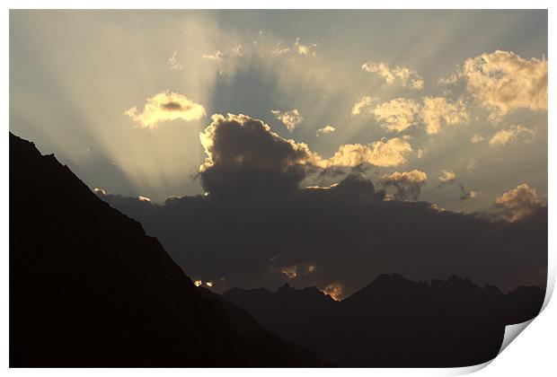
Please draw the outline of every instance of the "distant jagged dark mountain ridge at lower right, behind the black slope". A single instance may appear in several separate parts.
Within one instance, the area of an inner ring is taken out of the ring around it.
[[[544,290],[503,294],[458,276],[428,283],[393,274],[341,302],[317,288],[285,286],[277,292],[234,288],[223,298],[338,366],[449,367],[494,358],[505,326],[534,318]]]

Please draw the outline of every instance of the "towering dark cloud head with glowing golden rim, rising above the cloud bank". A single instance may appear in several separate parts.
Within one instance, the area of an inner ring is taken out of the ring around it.
[[[199,176],[213,197],[292,191],[321,162],[307,145],[280,137],[259,119],[215,114],[211,120],[199,134],[207,154]]]

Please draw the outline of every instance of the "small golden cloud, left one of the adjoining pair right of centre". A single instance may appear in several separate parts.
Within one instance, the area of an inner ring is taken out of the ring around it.
[[[373,115],[388,131],[402,132],[416,124],[415,119],[419,111],[420,105],[415,101],[395,98],[392,101],[378,104],[373,110]]]

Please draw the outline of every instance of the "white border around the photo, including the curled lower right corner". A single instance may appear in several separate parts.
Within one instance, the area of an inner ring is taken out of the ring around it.
[[[453,1],[438,1],[438,0],[422,0],[420,2],[416,1],[402,1],[402,0],[390,0],[388,2],[370,2],[364,0],[343,0],[343,1],[303,1],[303,0],[281,0],[274,2],[255,2],[253,0],[235,0],[234,2],[227,2],[223,0],[204,0],[203,2],[190,2],[190,1],[179,1],[179,0],[157,0],[154,1],[119,1],[119,0],[82,0],[79,2],[69,1],[69,0],[57,0],[57,1],[38,1],[38,0],[21,0],[13,1],[8,0],[4,2],[5,8],[4,13],[2,13],[0,18],[0,25],[2,25],[2,51],[4,51],[4,56],[0,59],[0,65],[2,66],[3,72],[3,83],[4,90],[1,92],[2,101],[0,103],[2,106],[2,115],[4,119],[4,124],[9,125],[9,12],[8,9],[33,9],[33,8],[49,8],[49,9],[229,9],[231,5],[234,8],[239,9],[307,9],[307,8],[323,8],[323,9],[361,9],[361,8],[376,8],[376,9],[549,9],[549,46],[548,46],[548,62],[550,66],[550,76],[549,76],[549,98],[550,103],[553,99],[553,88],[555,80],[553,79],[554,67],[553,58],[550,56],[549,52],[553,50],[554,45],[554,28],[553,28],[553,9],[552,5],[554,2],[550,1],[500,1],[491,0],[489,2],[479,1],[479,0],[453,0]],[[417,8],[417,5],[420,8]],[[553,114],[553,107],[550,106],[549,109],[549,188],[548,197],[555,197],[555,132],[553,131],[553,126],[557,127],[555,123],[555,117]],[[5,131],[4,131],[5,132]],[[281,376],[284,373],[289,374],[317,374],[327,376],[327,375],[338,375],[339,373],[349,374],[349,375],[369,375],[370,373],[377,375],[452,375],[461,373],[471,373],[475,370],[481,369],[482,366],[472,367],[472,368],[455,368],[455,369],[311,369],[311,370],[283,370],[283,369],[267,369],[264,371],[257,369],[152,369],[152,370],[138,370],[138,369],[82,369],[82,370],[72,370],[72,369],[53,369],[53,370],[8,370],[8,225],[9,225],[9,212],[8,212],[8,195],[9,195],[9,183],[8,183],[8,138],[7,134],[2,138],[2,147],[0,148],[0,153],[2,153],[2,164],[0,165],[0,179],[3,180],[3,184],[0,185],[0,197],[3,198],[1,203],[2,210],[2,227],[0,228],[0,234],[2,235],[2,289],[0,290],[1,302],[3,305],[3,310],[0,311],[0,320],[2,326],[0,327],[2,342],[0,345],[0,357],[3,363],[3,368],[0,369],[0,373],[11,373],[18,375],[35,375],[35,374],[51,374],[51,375],[75,375],[75,374],[91,374],[96,375],[97,373],[103,373],[108,376],[124,374],[133,375],[159,375],[160,373],[168,373],[172,375],[182,376],[184,373],[194,374],[198,376],[214,376],[222,375],[225,373],[230,376],[259,376],[261,373],[269,374],[270,376]],[[553,288],[555,281],[555,237],[552,230],[554,229],[554,211],[553,206],[549,204],[550,209],[550,239],[549,239],[549,278],[551,288]],[[553,289],[552,289],[553,290]],[[555,319],[557,317],[557,310],[555,309],[555,304],[550,303],[540,315],[539,318],[535,319],[530,326],[518,337],[517,341],[512,342],[491,364],[489,367],[482,369],[482,375],[485,376],[524,376],[526,373],[531,375],[551,375],[555,371],[554,362],[554,345],[555,336],[557,335],[557,326],[555,325]],[[553,373],[552,373],[553,371]]]

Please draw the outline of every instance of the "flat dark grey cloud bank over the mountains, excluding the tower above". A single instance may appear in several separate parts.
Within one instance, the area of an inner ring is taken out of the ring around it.
[[[192,279],[211,281],[217,291],[287,281],[351,294],[385,272],[458,274],[503,290],[544,285],[546,208],[515,223],[491,222],[383,197],[370,181],[350,176],[330,188],[249,200],[174,197],[159,206],[103,198],[144,224]]]

